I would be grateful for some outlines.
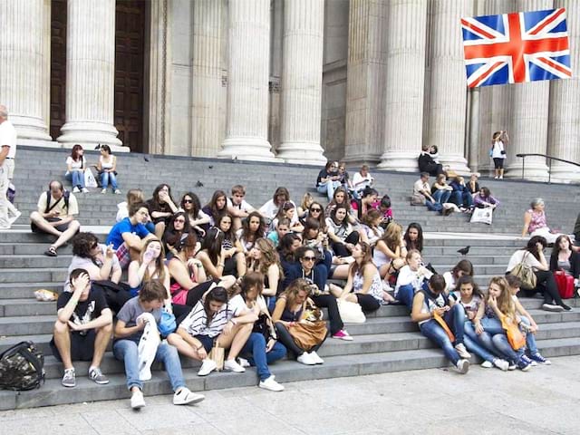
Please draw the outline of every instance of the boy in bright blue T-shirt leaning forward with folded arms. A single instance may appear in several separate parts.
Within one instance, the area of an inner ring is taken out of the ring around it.
[[[144,202],[129,206],[129,218],[117,222],[107,237],[107,245],[117,250],[121,269],[127,268],[131,259],[138,259],[141,250],[150,238],[155,238],[145,227],[149,218],[149,208]]]

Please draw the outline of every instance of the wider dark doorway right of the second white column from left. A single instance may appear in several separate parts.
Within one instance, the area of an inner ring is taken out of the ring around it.
[[[131,151],[142,152],[145,8],[142,0],[117,0],[115,20],[115,128]]]

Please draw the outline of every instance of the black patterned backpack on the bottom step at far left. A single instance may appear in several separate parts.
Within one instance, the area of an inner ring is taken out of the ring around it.
[[[26,391],[44,382],[44,355],[33,342],[21,342],[0,354],[0,388]]]

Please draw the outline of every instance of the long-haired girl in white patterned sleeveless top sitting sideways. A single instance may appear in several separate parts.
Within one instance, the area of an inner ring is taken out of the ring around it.
[[[346,285],[341,289],[332,286],[331,292],[339,299],[360,304],[364,313],[372,313],[383,301],[394,302],[394,298],[382,290],[379,270],[372,264],[371,247],[364,242],[354,246],[354,262],[350,266]]]

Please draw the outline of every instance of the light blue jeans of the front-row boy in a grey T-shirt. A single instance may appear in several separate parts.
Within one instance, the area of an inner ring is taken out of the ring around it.
[[[139,345],[132,340],[119,340],[112,346],[112,353],[115,358],[125,363],[125,375],[127,376],[127,388],[132,387],[143,389],[143,382],[139,379]],[[181,362],[177,348],[168,343],[160,343],[155,353],[155,359],[163,362],[165,371],[169,376],[171,388],[178,391],[185,387],[186,383],[181,372]]]

